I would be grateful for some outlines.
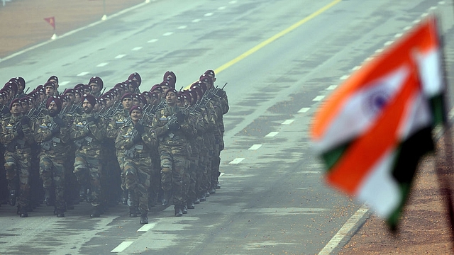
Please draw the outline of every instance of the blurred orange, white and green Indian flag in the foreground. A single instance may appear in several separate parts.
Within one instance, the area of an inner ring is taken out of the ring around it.
[[[311,139],[326,180],[397,226],[444,91],[435,18],[367,62],[323,103]],[[438,99],[436,99],[438,98]]]

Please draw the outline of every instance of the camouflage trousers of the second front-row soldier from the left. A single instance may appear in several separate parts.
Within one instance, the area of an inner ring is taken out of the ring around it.
[[[45,190],[55,191],[55,208],[65,209],[65,166],[63,158],[40,156],[40,177]],[[53,184],[53,185],[52,185]]]

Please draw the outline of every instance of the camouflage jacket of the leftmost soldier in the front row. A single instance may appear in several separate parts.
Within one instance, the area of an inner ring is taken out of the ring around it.
[[[33,122],[28,125],[20,125],[23,115],[14,116],[4,119],[1,122],[0,143],[6,147],[9,152],[15,149],[30,149],[35,142],[33,137]],[[23,135],[18,130],[22,129]]]

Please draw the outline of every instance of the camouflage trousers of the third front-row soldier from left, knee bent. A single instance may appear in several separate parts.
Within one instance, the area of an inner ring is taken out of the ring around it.
[[[92,205],[100,205],[103,201],[101,197],[101,159],[95,159],[76,152],[74,174],[76,174],[80,185],[84,188],[89,188],[92,192]]]

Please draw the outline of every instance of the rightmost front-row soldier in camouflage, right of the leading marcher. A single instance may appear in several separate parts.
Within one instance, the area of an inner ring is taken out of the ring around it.
[[[153,129],[159,138],[161,159],[162,205],[167,205],[173,193],[175,216],[183,215],[182,181],[184,170],[189,166],[190,147],[187,136],[194,135],[194,128],[187,121],[184,108],[177,107],[177,91],[165,93],[167,106],[156,112]]]

